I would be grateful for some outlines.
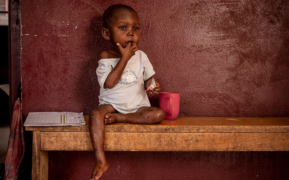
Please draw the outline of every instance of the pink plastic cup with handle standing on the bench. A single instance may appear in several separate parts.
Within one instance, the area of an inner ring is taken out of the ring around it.
[[[167,120],[174,120],[180,112],[179,92],[160,92],[160,108],[165,112]]]

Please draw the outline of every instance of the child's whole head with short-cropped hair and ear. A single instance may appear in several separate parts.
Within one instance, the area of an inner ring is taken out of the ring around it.
[[[115,4],[103,13],[102,35],[116,46],[117,43],[125,48],[129,42],[139,43],[140,24],[136,11],[126,5]]]

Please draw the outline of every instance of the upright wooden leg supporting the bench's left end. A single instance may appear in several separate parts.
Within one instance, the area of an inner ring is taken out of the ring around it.
[[[40,150],[40,131],[33,131],[32,180],[48,180],[48,151]]]

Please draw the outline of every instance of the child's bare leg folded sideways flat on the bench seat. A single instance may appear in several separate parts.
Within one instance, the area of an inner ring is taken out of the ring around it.
[[[162,122],[164,118],[165,113],[159,108],[141,107],[134,113],[108,113],[105,115],[104,123],[156,124]]]

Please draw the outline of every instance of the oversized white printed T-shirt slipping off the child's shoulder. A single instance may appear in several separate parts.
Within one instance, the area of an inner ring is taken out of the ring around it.
[[[120,58],[99,60],[96,69],[100,85],[99,105],[112,105],[119,113],[136,112],[140,107],[149,107],[150,102],[144,91],[144,81],[155,74],[153,66],[141,50],[128,61],[120,80],[109,89],[104,85],[108,74],[113,70]]]

